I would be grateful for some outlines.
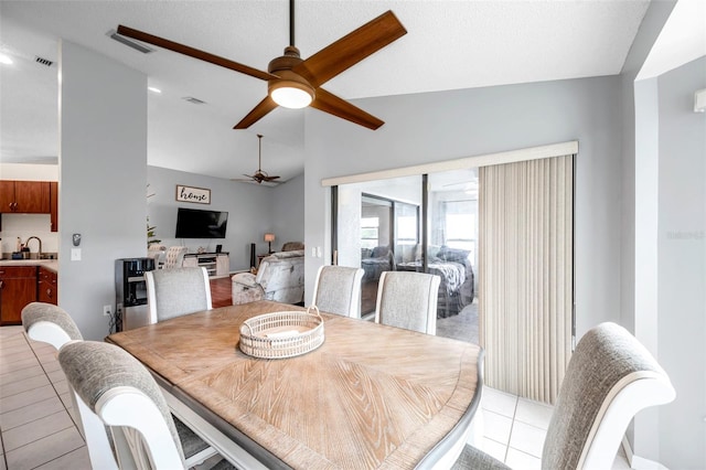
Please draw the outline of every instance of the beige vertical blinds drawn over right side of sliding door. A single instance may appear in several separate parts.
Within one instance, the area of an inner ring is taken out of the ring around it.
[[[574,156],[481,167],[485,383],[554,403],[571,354]]]

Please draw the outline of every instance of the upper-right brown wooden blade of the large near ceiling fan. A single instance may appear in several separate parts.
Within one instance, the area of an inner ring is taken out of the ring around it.
[[[292,71],[315,88],[405,34],[407,30],[395,13],[387,11],[317,52]]]

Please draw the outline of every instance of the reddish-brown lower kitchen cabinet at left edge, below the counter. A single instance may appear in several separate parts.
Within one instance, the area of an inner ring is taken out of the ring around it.
[[[22,324],[22,309],[36,300],[36,266],[0,266],[0,325]]]

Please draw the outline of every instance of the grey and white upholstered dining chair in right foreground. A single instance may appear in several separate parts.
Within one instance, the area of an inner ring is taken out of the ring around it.
[[[624,328],[601,323],[579,341],[547,428],[542,468],[610,469],[641,409],[672,402],[676,392],[652,354]],[[466,446],[453,469],[509,469]]]

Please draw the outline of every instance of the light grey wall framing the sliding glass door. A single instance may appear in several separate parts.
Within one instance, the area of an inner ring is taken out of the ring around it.
[[[570,140],[576,181],[579,337],[620,318],[620,79],[598,77],[361,99],[384,119],[371,131],[306,115],[306,243],[330,249],[329,190],[321,179]],[[328,253],[328,252],[327,252]],[[310,255],[310,254],[309,254]],[[306,261],[307,291],[323,258]]]

